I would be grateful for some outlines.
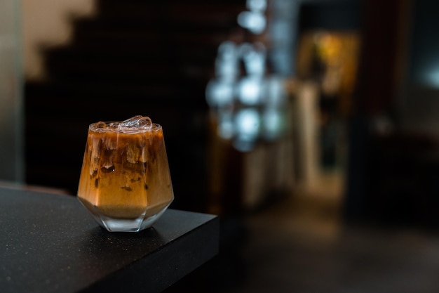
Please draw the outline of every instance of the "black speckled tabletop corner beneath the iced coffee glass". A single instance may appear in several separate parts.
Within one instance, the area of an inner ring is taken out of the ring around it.
[[[0,187],[0,291],[161,292],[215,256],[219,219],[168,209],[109,233],[76,197]]]

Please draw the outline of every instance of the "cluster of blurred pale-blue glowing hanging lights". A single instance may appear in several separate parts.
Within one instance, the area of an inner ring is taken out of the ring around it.
[[[266,6],[266,0],[248,0],[248,11],[238,15],[238,24],[252,34],[264,32]],[[279,30],[286,28],[286,23],[278,24]],[[278,41],[289,39],[285,38],[285,32],[290,30],[277,32]],[[285,54],[290,51],[285,50]],[[284,79],[267,76],[266,59],[267,49],[261,42],[224,41],[218,47],[215,77],[205,89],[206,100],[217,123],[217,136],[231,141],[241,152],[253,150],[261,140],[280,138],[285,129]],[[288,60],[279,59],[279,62],[288,63]]]

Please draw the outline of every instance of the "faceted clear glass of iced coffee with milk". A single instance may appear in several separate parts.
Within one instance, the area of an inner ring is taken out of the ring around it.
[[[90,124],[78,199],[108,231],[151,227],[174,200],[162,126],[142,116]]]

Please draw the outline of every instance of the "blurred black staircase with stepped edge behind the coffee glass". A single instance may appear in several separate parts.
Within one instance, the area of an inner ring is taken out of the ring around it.
[[[47,78],[25,83],[27,183],[76,195],[88,125],[149,116],[163,126],[174,205],[203,209],[208,107],[218,45],[245,1],[98,0],[69,44],[43,51]]]

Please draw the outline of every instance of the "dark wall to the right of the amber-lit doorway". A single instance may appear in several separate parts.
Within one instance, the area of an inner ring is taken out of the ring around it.
[[[364,4],[362,55],[349,124],[345,219],[437,227],[439,144],[431,131],[436,119],[430,118],[438,103],[431,103],[433,92],[413,86],[438,52],[432,37],[439,26],[434,15],[438,4]]]

